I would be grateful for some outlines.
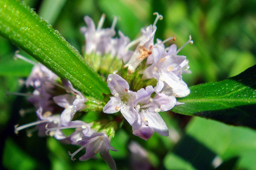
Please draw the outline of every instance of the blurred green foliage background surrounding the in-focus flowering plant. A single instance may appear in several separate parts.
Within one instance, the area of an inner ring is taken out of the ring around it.
[[[156,38],[164,40],[176,35],[175,44],[182,46],[179,55],[187,56],[191,74],[184,75],[189,86],[220,81],[256,64],[256,1],[135,1],[135,0],[26,0],[31,8],[58,30],[82,54],[84,36],[79,29],[86,26],[85,15],[98,23],[106,14],[104,27],[110,27],[118,16],[116,31],[131,40],[140,29],[154,22],[153,12],[163,15],[157,22]],[[173,42],[167,42],[166,46]],[[31,71],[31,64],[14,60],[16,46],[0,37],[0,128],[2,168],[6,169],[108,169],[99,160],[71,161],[68,151],[78,147],[64,145],[51,137],[38,137],[26,130],[14,134],[14,125],[36,120],[35,110],[24,97],[6,96],[6,92],[26,92],[21,85]],[[24,52],[21,52],[24,56]],[[28,56],[29,57],[29,56]],[[22,110],[21,110],[22,109]],[[20,116],[19,112],[25,111]],[[256,111],[255,111],[256,114]],[[256,131],[234,127],[199,117],[172,112],[161,114],[170,136],[155,134],[148,141],[119,130],[111,145],[118,169],[256,169]],[[128,145],[137,141],[145,150],[136,157]],[[83,153],[80,153],[82,155]],[[78,158],[79,155],[76,155]],[[134,159],[135,158],[135,159]],[[147,161],[143,160],[146,159]],[[214,159],[214,163],[212,160]],[[136,162],[137,161],[137,162]],[[214,164],[214,166],[213,166]]]

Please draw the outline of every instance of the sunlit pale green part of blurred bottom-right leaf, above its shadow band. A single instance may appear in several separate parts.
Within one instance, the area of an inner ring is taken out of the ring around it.
[[[194,117],[188,124],[186,132],[217,153],[223,162],[228,163],[228,160],[238,156],[238,169],[255,169],[255,130]],[[231,161],[230,164],[233,165],[234,162]]]

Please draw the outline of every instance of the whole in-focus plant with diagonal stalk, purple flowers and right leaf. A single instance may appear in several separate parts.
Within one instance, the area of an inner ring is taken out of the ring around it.
[[[153,24],[142,28],[133,41],[121,31],[119,38],[115,36],[116,17],[110,28],[104,28],[103,14],[96,28],[85,16],[87,26],[80,29],[85,37],[81,56],[23,2],[0,1],[0,6],[0,34],[40,62],[16,54],[34,65],[25,81],[33,92],[25,95],[38,120],[15,126],[15,133],[36,125],[39,136],[81,146],[68,152],[71,160],[85,148],[80,161],[96,159],[99,153],[116,169],[110,154],[110,150],[118,151],[111,144],[116,132],[130,124],[132,139],[149,140],[154,132],[167,137],[172,131],[162,116],[170,110],[256,127],[255,66],[220,82],[188,87],[182,75],[191,73],[189,61],[178,53],[193,44],[191,35],[178,49],[175,44],[165,47],[176,36],[154,41],[157,21],[163,19],[157,12]],[[90,112],[97,119],[87,120]],[[67,134],[64,129],[73,130]]]

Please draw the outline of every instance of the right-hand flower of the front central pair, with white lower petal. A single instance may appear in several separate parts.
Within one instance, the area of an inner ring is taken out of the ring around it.
[[[147,86],[146,89],[138,90],[133,100],[133,114],[138,116],[132,124],[133,134],[144,140],[148,140],[154,131],[162,136],[169,135],[168,128],[158,112],[170,110],[176,104],[174,96],[159,94],[151,98],[153,92],[154,88]]]

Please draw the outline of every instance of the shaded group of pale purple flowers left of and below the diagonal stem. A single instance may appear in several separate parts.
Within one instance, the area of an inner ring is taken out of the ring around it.
[[[77,112],[86,108],[85,103],[88,100],[80,91],[74,89],[68,80],[60,81],[56,74],[41,64],[35,64],[25,84],[27,87],[34,87],[33,94],[27,100],[37,109],[39,120],[22,126],[16,125],[15,133],[37,125],[39,136],[50,135],[64,143],[81,145],[80,149],[70,154],[72,160],[75,160],[73,157],[77,152],[85,148],[86,154],[79,160],[95,159],[95,154],[99,152],[109,166],[115,169],[115,162],[109,154],[109,149],[117,150],[110,146],[110,136],[104,130],[93,128],[93,123],[73,120]],[[74,131],[66,136],[61,130],[69,128],[74,128]]]

